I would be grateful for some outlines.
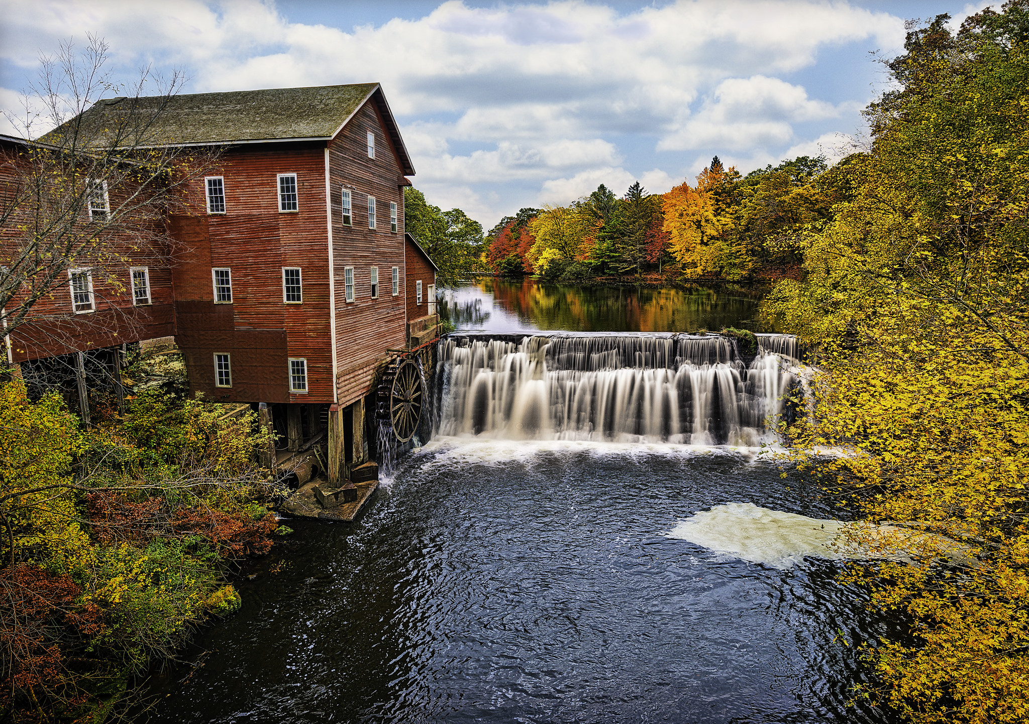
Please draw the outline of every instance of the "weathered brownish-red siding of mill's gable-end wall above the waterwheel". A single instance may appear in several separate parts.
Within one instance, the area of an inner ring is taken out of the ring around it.
[[[368,158],[367,132],[376,135],[376,157]],[[371,390],[375,366],[387,348],[405,339],[403,195],[400,167],[375,105],[366,103],[329,143],[335,328],[341,405]],[[341,196],[351,192],[353,223],[342,223]],[[367,197],[376,197],[376,230],[368,229]],[[397,205],[397,230],[390,230],[390,203]],[[354,267],[354,301],[346,301],[345,268]],[[370,268],[379,267],[379,298],[370,296]],[[390,269],[399,267],[400,289],[391,293]]]

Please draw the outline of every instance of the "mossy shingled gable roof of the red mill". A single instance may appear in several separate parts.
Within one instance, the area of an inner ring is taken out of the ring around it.
[[[40,140],[67,134],[75,122],[113,128],[127,114],[139,113],[153,115],[152,122],[146,121],[142,146],[327,141],[369,100],[385,121],[402,173],[414,175],[415,168],[379,83],[104,99]]]

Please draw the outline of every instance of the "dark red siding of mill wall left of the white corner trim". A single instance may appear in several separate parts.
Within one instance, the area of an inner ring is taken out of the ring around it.
[[[278,175],[292,173],[298,211],[280,213]],[[225,213],[205,210],[173,223],[183,248],[175,267],[177,340],[190,386],[209,399],[331,402],[324,145],[233,149],[218,175]],[[232,304],[214,303],[211,270],[220,266],[232,269]],[[283,266],[301,269],[301,304],[283,301]],[[214,387],[216,352],[232,355],[230,389]],[[308,361],[308,394],[289,392],[290,357]]]

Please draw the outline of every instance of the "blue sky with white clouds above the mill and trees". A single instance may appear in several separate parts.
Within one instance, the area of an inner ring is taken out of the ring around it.
[[[489,228],[599,183],[666,191],[714,154],[744,173],[839,156],[884,87],[870,52],[897,55],[906,19],[988,4],[0,0],[0,107],[86,32],[115,80],[179,68],[183,93],[377,80],[415,185]]]

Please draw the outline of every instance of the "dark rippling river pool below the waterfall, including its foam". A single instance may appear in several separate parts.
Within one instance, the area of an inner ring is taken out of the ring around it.
[[[496,289],[455,296],[546,323]],[[151,721],[890,721],[851,701],[894,631],[818,542],[847,513],[756,452],[432,440],[354,524],[288,521]]]

